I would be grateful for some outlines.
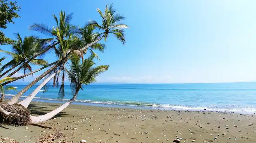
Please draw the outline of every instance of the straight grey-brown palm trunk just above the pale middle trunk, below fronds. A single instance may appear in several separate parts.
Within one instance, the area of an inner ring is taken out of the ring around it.
[[[24,94],[28,89],[30,89],[33,85],[35,85],[37,82],[39,82],[42,78],[44,78],[47,74],[49,74],[52,70],[54,70],[55,68],[57,68],[58,66],[61,65],[61,62],[59,62],[58,64],[52,66],[51,68],[49,68],[46,72],[44,72],[43,74],[41,74],[39,77],[37,77],[34,81],[32,81],[29,85],[27,85],[25,88],[23,88],[19,93],[17,93],[11,100],[9,100],[7,103],[8,104],[14,104],[16,103],[20,96],[22,94]]]

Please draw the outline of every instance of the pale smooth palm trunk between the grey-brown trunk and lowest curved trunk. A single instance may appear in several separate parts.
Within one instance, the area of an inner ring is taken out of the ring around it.
[[[22,100],[19,104],[23,105],[27,108],[32,101],[32,99],[36,96],[36,94],[46,85],[56,74],[58,74],[63,68],[59,69],[57,72],[49,76],[45,79],[26,99]]]

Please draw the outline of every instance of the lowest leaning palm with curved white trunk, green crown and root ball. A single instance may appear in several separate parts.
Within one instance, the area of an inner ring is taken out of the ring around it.
[[[84,89],[83,85],[89,85],[93,82],[96,82],[95,78],[100,73],[106,71],[109,68],[109,65],[95,66],[94,58],[95,56],[91,55],[88,58],[81,60],[81,58],[76,54],[71,55],[70,67],[69,69],[65,69],[65,71],[70,81],[70,87],[73,97],[62,106],[50,113],[35,117],[30,115],[30,111],[27,108],[21,106],[24,105],[23,103],[25,102],[14,105],[0,104],[0,124],[30,125],[31,123],[47,121],[63,111],[68,105],[76,100],[79,90]],[[30,97],[27,97],[26,99],[29,98]],[[14,111],[15,113],[13,113]],[[7,116],[8,114],[16,114],[17,116],[23,115],[23,117],[12,118]]]

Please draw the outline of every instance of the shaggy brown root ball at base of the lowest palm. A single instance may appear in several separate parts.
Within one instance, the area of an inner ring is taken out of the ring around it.
[[[30,111],[20,104],[6,104],[0,103],[0,107],[2,107],[5,111],[20,114],[23,117],[17,116],[6,116],[2,112],[0,112],[0,125],[30,125]]]

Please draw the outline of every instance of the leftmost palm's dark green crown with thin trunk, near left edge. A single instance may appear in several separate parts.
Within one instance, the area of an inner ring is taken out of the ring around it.
[[[17,73],[19,70],[23,68],[24,70],[24,75],[27,71],[32,72],[32,67],[30,64],[33,65],[40,65],[40,66],[45,66],[48,64],[47,61],[40,59],[40,58],[34,58],[31,59],[32,56],[35,53],[40,53],[44,51],[44,49],[41,47],[39,39],[35,36],[28,36],[25,37],[24,40],[22,40],[20,34],[16,34],[17,42],[12,44],[12,51],[13,52],[8,52],[8,51],[2,51],[5,52],[6,54],[9,54],[12,56],[12,60],[9,61],[7,64],[2,66],[2,70],[8,67],[11,67],[7,71],[5,71],[3,74],[0,75],[2,77],[15,67],[19,66],[20,64],[24,64],[24,66],[20,66],[18,69],[16,69],[14,72],[8,75],[8,77],[11,77],[15,73]],[[30,61],[29,61],[30,60]],[[27,63],[27,61],[29,61]]]

